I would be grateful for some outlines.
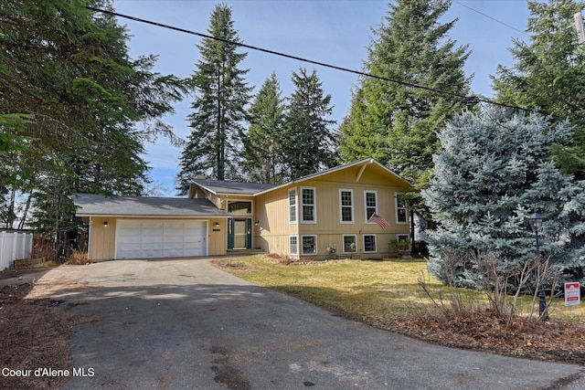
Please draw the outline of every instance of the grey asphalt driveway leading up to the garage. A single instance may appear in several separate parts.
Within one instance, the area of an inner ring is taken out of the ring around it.
[[[472,353],[346,321],[214,268],[118,260],[42,284],[100,320],[74,329],[64,389],[578,389],[584,367]],[[67,282],[67,283],[65,283]],[[65,306],[65,305],[64,305]]]

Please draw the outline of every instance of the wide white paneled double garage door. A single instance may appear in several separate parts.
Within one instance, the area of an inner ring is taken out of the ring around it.
[[[206,221],[118,219],[116,258],[205,256],[206,237]]]

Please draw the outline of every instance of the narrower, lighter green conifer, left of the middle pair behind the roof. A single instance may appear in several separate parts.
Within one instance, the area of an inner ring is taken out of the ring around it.
[[[281,85],[272,72],[250,106],[244,167],[251,181],[282,183],[281,132],[284,104]]]

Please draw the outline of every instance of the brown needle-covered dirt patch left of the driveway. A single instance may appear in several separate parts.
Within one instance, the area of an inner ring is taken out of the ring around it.
[[[60,388],[72,370],[72,328],[96,320],[67,311],[66,301],[42,293],[48,286],[36,286],[36,280],[48,270],[0,272],[0,369],[5,370],[0,388]]]

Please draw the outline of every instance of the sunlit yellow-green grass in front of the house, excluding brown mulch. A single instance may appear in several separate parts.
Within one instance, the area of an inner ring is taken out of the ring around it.
[[[374,323],[432,308],[431,299],[420,288],[420,278],[424,278],[435,301],[449,305],[451,300],[450,288],[429,276],[424,261],[328,260],[286,265],[259,255],[219,259],[216,265],[260,286]],[[457,289],[457,293],[465,304],[488,305],[483,291]],[[518,311],[527,313],[531,301],[532,297],[521,297]],[[565,307],[564,300],[553,302],[549,313],[560,320],[585,321],[582,305]]]

